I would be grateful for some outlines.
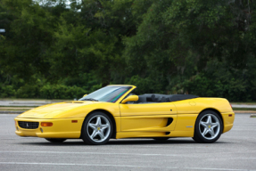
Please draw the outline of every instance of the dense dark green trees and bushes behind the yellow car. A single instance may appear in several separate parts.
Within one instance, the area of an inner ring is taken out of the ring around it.
[[[1,0],[0,97],[137,94],[256,101],[254,0]]]

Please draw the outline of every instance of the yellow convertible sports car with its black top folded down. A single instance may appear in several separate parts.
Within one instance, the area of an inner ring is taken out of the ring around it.
[[[49,142],[83,139],[104,144],[110,138],[192,137],[216,142],[229,131],[235,113],[226,99],[187,94],[132,94],[134,85],[108,85],[78,101],[47,104],[15,118],[15,133]]]

